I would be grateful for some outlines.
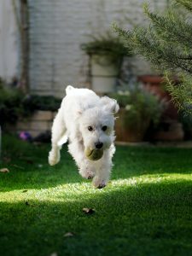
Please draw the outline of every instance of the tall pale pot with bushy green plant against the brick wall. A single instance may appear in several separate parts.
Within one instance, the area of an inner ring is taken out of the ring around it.
[[[90,56],[91,89],[99,93],[114,91],[123,57],[128,52],[123,42],[107,32],[93,37],[81,48]]]

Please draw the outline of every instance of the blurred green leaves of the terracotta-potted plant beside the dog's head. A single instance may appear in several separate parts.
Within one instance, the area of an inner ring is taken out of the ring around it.
[[[121,108],[125,108],[125,127],[142,129],[144,124],[153,122],[158,125],[165,104],[157,96],[144,90],[139,84],[134,84],[129,90],[113,94]]]

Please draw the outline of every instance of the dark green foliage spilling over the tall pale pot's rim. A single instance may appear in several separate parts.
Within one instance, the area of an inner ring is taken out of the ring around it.
[[[121,59],[124,55],[129,55],[122,40],[106,32],[104,35],[92,37],[88,43],[82,44],[83,49],[88,55],[105,55],[112,61]]]

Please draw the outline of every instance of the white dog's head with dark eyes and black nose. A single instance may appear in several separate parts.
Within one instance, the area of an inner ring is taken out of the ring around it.
[[[114,140],[114,114],[119,111],[118,103],[104,96],[96,106],[79,111],[80,132],[84,148],[105,150]]]

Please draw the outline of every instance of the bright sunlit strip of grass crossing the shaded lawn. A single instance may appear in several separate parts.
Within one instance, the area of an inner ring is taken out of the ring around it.
[[[192,181],[192,174],[182,173],[161,173],[160,175],[143,175],[130,178],[119,178],[109,181],[108,187],[105,189],[95,189],[91,183],[64,183],[47,189],[15,189],[9,192],[4,192],[1,195],[1,201],[16,202],[16,201],[79,201],[83,196],[90,198],[95,195],[102,195],[122,188],[129,189],[133,186],[141,186],[143,184],[155,183],[179,183],[180,181]],[[62,196],[62,197],[61,197]]]

